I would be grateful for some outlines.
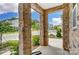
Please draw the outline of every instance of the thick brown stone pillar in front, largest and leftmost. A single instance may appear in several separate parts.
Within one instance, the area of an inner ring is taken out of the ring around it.
[[[31,54],[31,5],[19,4],[19,54]]]

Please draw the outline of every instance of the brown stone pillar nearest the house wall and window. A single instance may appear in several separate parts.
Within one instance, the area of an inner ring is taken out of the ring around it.
[[[70,21],[70,7],[69,4],[65,4],[63,10],[63,48],[69,51],[69,21]]]

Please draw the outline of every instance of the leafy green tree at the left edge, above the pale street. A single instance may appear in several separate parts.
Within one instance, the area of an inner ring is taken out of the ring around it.
[[[2,43],[2,35],[8,32],[15,32],[17,29],[11,26],[9,22],[0,22],[0,43]]]

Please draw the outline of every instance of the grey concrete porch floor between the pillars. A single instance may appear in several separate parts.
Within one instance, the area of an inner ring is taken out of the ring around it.
[[[41,51],[42,55],[69,55],[67,51],[52,46],[39,46],[32,52],[35,51]]]

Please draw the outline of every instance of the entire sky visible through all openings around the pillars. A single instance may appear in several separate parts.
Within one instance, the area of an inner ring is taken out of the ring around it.
[[[61,23],[62,11],[56,11],[48,14],[49,24],[59,24]],[[15,3],[0,3],[0,21],[9,19],[12,17],[18,17],[18,4]],[[40,20],[40,14],[31,9],[31,18],[33,20]]]

